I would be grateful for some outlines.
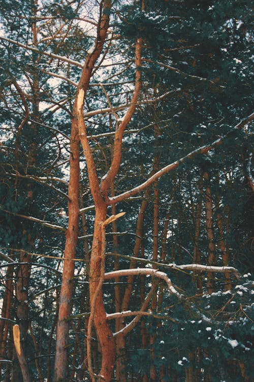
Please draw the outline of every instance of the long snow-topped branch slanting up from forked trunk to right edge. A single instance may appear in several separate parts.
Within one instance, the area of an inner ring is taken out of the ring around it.
[[[245,126],[248,122],[252,121],[254,118],[254,113],[250,114],[247,118],[239,122],[233,130],[231,130],[228,134],[224,135],[224,137],[221,137],[217,139],[216,141],[212,142],[210,145],[202,146],[197,148],[194,151],[189,152],[187,155],[183,156],[182,158],[176,160],[175,162],[171,163],[170,165],[167,165],[163,167],[161,170],[157,171],[155,174],[153,174],[150,178],[148,178],[144,183],[138,185],[137,187],[132,188],[131,190],[126,191],[125,193],[122,193],[120,195],[109,197],[107,199],[108,204],[114,204],[118,203],[122,200],[125,200],[126,198],[129,198],[130,196],[136,195],[139,192],[143,191],[147,187],[149,187],[152,183],[154,183],[157,179],[159,179],[161,176],[169,173],[172,170],[177,169],[181,163],[186,162],[187,159],[193,159],[198,154],[207,154],[209,151],[214,149],[217,146],[220,146],[223,144],[225,138],[229,137],[230,134],[232,134],[233,131],[236,129],[240,129],[241,127]]]

